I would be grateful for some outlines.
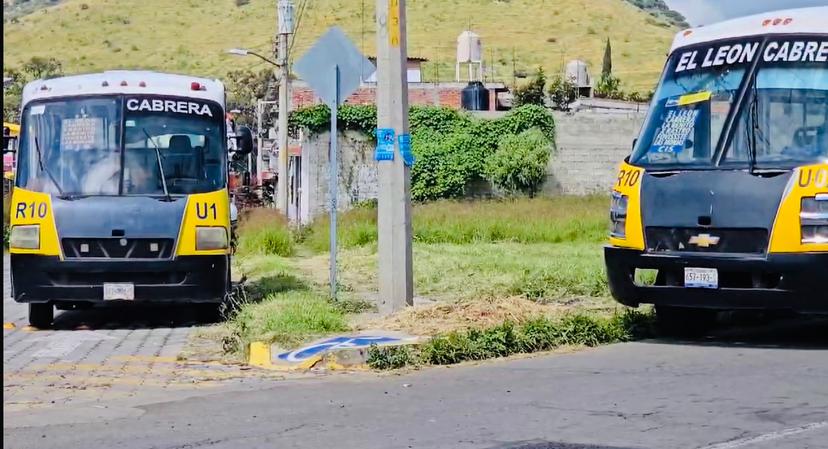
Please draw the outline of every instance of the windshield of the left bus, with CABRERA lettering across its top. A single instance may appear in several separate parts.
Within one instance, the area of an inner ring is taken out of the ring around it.
[[[226,185],[223,114],[213,103],[153,96],[48,100],[27,105],[22,126],[17,185],[27,190],[154,196],[165,194],[165,184],[170,195]]]

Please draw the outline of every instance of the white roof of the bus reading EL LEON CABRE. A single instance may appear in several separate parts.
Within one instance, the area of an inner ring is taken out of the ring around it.
[[[670,53],[689,45],[743,36],[826,34],[827,23],[828,6],[771,11],[684,30],[676,34]]]

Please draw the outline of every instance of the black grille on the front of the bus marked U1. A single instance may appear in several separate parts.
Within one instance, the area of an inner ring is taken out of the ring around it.
[[[62,241],[67,259],[169,259],[173,239],[66,238]]]

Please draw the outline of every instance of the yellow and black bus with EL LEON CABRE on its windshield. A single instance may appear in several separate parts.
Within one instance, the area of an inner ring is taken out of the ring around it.
[[[828,313],[828,7],[676,36],[612,192],[612,295],[666,328]]]

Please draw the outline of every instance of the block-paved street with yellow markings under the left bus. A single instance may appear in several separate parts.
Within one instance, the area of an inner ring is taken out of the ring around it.
[[[58,312],[53,330],[29,328],[27,307],[10,299],[4,259],[3,415],[11,425],[27,425],[38,413],[97,416],[108,404],[249,384],[245,379],[252,373],[239,366],[179,360],[191,334],[204,325],[186,307]]]

